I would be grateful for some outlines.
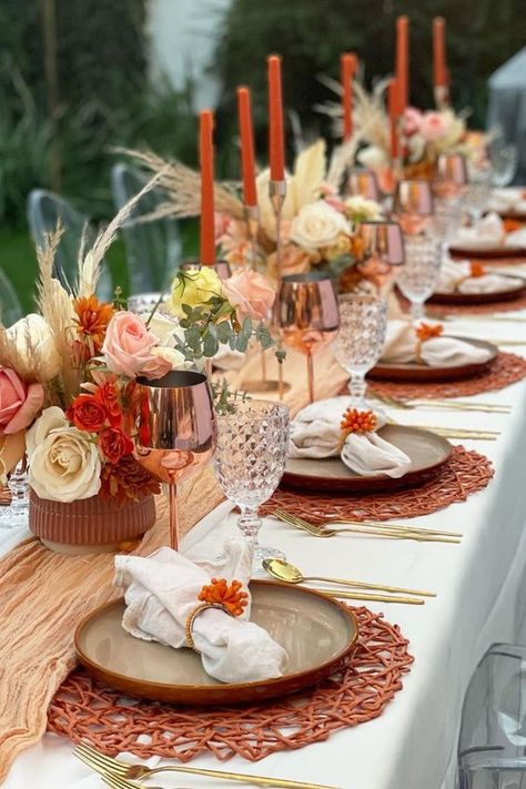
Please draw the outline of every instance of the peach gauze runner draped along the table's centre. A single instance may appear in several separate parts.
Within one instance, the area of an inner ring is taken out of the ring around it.
[[[327,351],[315,360],[316,397],[333,396],[346,376]],[[275,365],[269,364],[275,377]],[[285,402],[293,412],[305,405],[305,361],[294,353],[285,363],[291,390]],[[233,385],[257,378],[256,357],[243,372],[229,375]],[[210,467],[180,486],[181,534],[223,498]],[[136,548],[149,554],[168,544],[164,497],[158,523]],[[63,556],[29,539],[0,560],[0,781],[24,748],[45,731],[48,707],[75,666],[73,633],[91,610],[118,596],[111,586],[113,555]]]

